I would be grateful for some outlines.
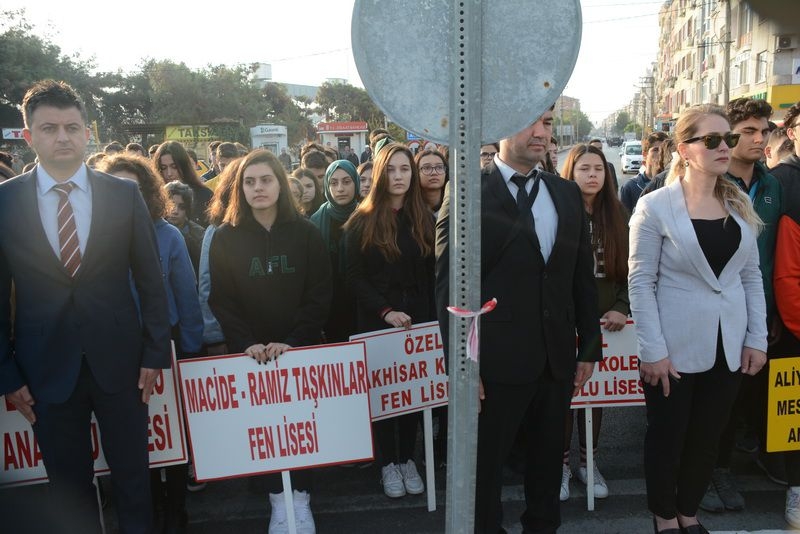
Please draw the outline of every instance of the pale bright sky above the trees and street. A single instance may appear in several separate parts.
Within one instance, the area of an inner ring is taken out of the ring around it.
[[[100,70],[130,71],[145,58],[190,68],[264,62],[272,65],[275,81],[319,85],[327,78],[345,78],[363,86],[350,49],[353,1],[266,0],[211,4],[201,11],[198,4],[163,0],[4,0],[2,10],[24,7],[37,34],[66,55],[94,57]],[[662,4],[581,0],[583,40],[565,93],[579,98],[593,121],[626,105],[655,60]]]

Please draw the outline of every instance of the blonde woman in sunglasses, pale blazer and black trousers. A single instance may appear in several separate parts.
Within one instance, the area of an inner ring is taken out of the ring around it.
[[[761,220],[723,175],[738,134],[718,106],[675,127],[683,177],[631,217],[628,290],[647,404],[648,507],[662,534],[703,534],[697,508],[742,373],[766,362]]]

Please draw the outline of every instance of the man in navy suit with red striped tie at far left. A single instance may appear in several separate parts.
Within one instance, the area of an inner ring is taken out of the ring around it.
[[[86,111],[70,86],[38,82],[22,107],[39,164],[0,187],[0,393],[33,425],[50,491],[42,524],[16,531],[100,532],[94,412],[120,530],[149,533],[147,402],[170,365],[153,225],[134,182],[83,163]]]

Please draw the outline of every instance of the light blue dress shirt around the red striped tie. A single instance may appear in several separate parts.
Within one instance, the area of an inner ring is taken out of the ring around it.
[[[89,227],[92,224],[92,187],[86,165],[81,165],[78,171],[69,179],[76,187],[69,194],[72,204],[72,213],[75,216],[75,226],[78,230],[78,246],[81,256],[86,252],[86,242],[89,239]],[[61,245],[58,242],[58,199],[61,193],[53,189],[57,182],[41,165],[36,167],[36,189],[38,193],[39,216],[47,240],[53,248],[53,253],[61,261]]]

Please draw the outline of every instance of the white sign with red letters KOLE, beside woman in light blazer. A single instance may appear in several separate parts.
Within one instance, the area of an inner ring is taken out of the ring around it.
[[[644,406],[636,324],[628,319],[619,332],[603,329],[602,333],[603,361],[597,362],[592,377],[572,398],[572,408]]]

